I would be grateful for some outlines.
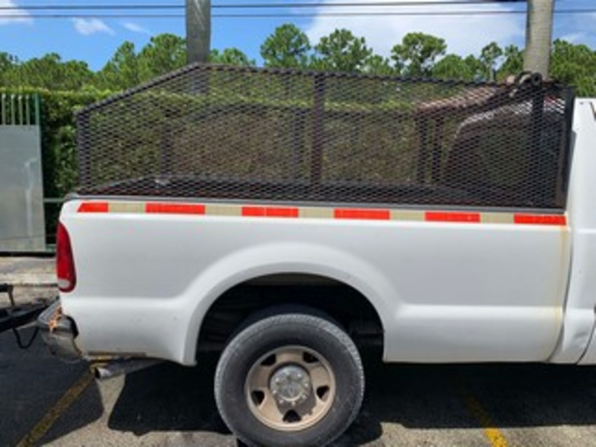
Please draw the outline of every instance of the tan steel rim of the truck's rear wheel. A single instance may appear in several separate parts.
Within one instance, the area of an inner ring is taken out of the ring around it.
[[[244,390],[254,417],[272,429],[293,432],[325,417],[336,382],[321,354],[304,346],[283,346],[254,362]]]

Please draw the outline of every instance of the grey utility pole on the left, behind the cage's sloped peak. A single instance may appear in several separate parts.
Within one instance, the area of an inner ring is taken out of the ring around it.
[[[186,0],[187,63],[208,62],[211,50],[211,0]]]

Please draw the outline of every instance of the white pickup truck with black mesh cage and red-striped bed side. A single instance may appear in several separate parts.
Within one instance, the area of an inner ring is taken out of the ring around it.
[[[595,107],[535,78],[218,66],[93,105],[46,342],[101,377],[219,350],[219,411],[259,446],[343,433],[371,345],[594,364]]]

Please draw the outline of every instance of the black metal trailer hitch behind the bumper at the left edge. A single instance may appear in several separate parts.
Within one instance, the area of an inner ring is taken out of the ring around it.
[[[33,340],[35,340],[39,328],[36,327],[35,330],[33,330],[31,338],[26,343],[23,343],[18,328],[35,321],[38,315],[48,307],[48,303],[42,300],[36,300],[33,303],[17,306],[14,301],[13,290],[13,284],[0,283],[0,293],[6,293],[8,295],[8,300],[10,300],[9,307],[0,308],[0,334],[12,330],[17,339],[18,347],[27,349],[31,346]]]

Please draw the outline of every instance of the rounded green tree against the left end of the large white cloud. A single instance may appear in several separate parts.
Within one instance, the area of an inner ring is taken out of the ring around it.
[[[358,38],[346,29],[337,29],[322,37],[316,44],[315,51],[311,67],[336,72],[359,72],[373,54],[364,38]]]

